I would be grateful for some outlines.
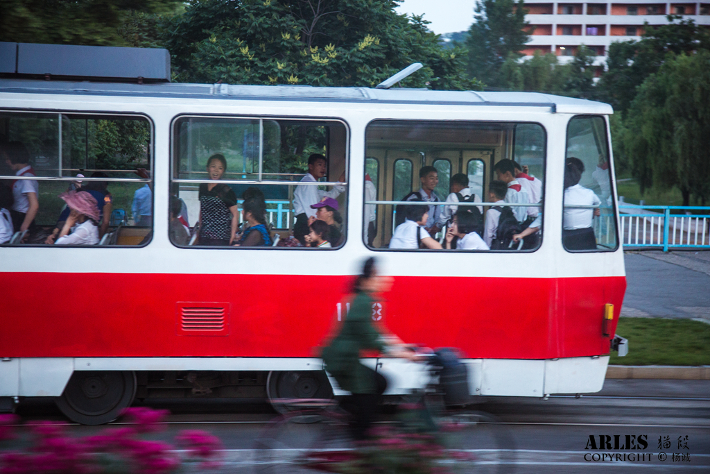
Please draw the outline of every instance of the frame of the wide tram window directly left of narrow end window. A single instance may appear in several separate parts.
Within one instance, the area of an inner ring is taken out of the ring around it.
[[[510,127],[510,129],[513,130],[513,148],[511,149],[511,153],[514,153],[514,144],[515,144],[515,126],[518,126],[520,124],[528,124],[528,125],[537,125],[540,127],[540,130],[542,130],[542,136],[543,136],[543,141],[542,143],[544,144],[544,150],[542,152],[542,155],[544,156],[544,160],[542,163],[542,179],[546,180],[547,179],[547,159],[548,159],[548,134],[547,134],[547,129],[545,128],[545,125],[543,125],[540,122],[532,122],[532,121],[474,121],[474,120],[424,120],[424,119],[373,119],[365,127],[365,153],[368,151],[368,140],[367,140],[367,134],[368,130],[373,124],[376,123],[396,123],[396,124],[444,124],[444,123],[451,123],[451,124],[456,124],[457,126],[460,126],[461,124],[468,124],[471,126],[480,126],[481,129],[484,128],[491,128],[495,129],[496,126],[500,126],[501,129],[506,129],[506,127]],[[494,157],[495,155],[491,155],[491,157]],[[511,155],[512,156],[512,155]],[[440,159],[447,159],[447,158],[440,158]],[[394,165],[400,160],[406,160],[410,161],[408,158],[398,158],[393,162],[393,172],[394,172]],[[483,160],[480,160],[479,158],[469,158],[468,161],[466,161],[466,171],[468,171],[468,163],[469,161],[482,161],[484,163],[484,173],[486,173],[486,163]],[[411,161],[410,161],[411,162]],[[491,173],[493,173],[493,166],[491,166]],[[485,174],[484,174],[485,176]],[[490,177],[491,181],[494,179],[493,176]],[[388,183],[383,183],[383,185],[388,185]],[[483,187],[485,188],[485,178],[484,178],[484,185]],[[411,191],[410,191],[411,192]],[[485,193],[485,189],[484,189]],[[487,198],[487,196],[485,196]],[[394,196],[392,196],[393,200]],[[545,228],[545,189],[543,188],[543,193],[542,193],[542,199],[540,200],[538,208],[540,209],[540,212],[542,212],[542,226],[540,229]],[[445,199],[444,199],[445,200]],[[486,202],[484,200],[484,196],[481,196],[481,201]],[[365,205],[365,201],[363,200],[363,206]],[[425,204],[426,205],[426,204]],[[394,223],[394,211],[396,208],[396,205],[392,205],[393,207],[393,223]],[[490,205],[484,205],[484,208],[491,208]],[[364,208],[363,208],[364,209]],[[485,218],[485,217],[484,217]],[[392,229],[392,232],[394,233],[394,228]],[[484,235],[481,235],[481,238],[483,238]],[[543,234],[540,234],[540,240],[538,241],[537,247],[534,249],[520,249],[520,250],[508,250],[508,249],[488,249],[488,250],[469,250],[469,249],[456,249],[456,250],[448,250],[448,249],[390,249],[390,248],[385,248],[385,247],[371,247],[367,244],[367,242],[363,242],[365,244],[365,247],[367,249],[373,251],[373,252],[439,252],[439,253],[457,253],[457,254],[464,254],[464,253],[469,253],[469,254],[532,254],[534,252],[537,252],[542,248],[543,241],[545,239],[545,236]]]

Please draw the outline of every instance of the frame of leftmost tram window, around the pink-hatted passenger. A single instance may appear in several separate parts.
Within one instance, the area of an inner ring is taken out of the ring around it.
[[[62,110],[44,110],[44,109],[0,109],[0,118],[2,117],[2,114],[35,114],[35,115],[46,115],[46,116],[57,116],[59,119],[59,122],[62,122],[62,116],[67,116],[67,119],[77,119],[79,117],[86,117],[86,119],[94,119],[94,120],[111,120],[111,119],[130,119],[131,117],[134,117],[137,120],[140,121],[145,121],[148,123],[148,126],[150,126],[150,134],[149,134],[149,141],[148,141],[148,162],[150,163],[150,169],[148,170],[148,173],[150,174],[150,178],[90,178],[90,177],[84,177],[81,178],[81,181],[83,182],[89,182],[89,181],[107,181],[109,183],[146,183],[151,186],[151,191],[154,190],[155,188],[155,122],[153,122],[153,118],[145,114],[143,112],[111,112],[111,111],[106,111],[106,110],[97,110],[97,111],[85,111],[85,110],[67,110],[67,109],[62,109]],[[62,126],[58,127],[58,149],[62,151],[60,156],[58,156],[58,168],[56,170],[58,171],[59,176],[35,176],[31,181],[48,181],[48,182],[65,182],[69,183],[72,181],[77,181],[77,176],[62,176],[63,171],[65,169],[70,169],[70,168],[63,168],[63,160],[64,160],[64,149],[66,147],[66,144],[63,143],[63,130]],[[52,169],[52,168],[50,168]],[[97,171],[96,169],[82,169],[82,168],[71,168],[72,171],[84,171],[84,172],[95,172]],[[122,173],[136,173],[137,168],[133,169],[126,169],[126,170],[111,170],[114,172],[122,172]],[[9,181],[13,179],[13,176],[0,176],[0,181]],[[39,196],[38,196],[39,198]],[[40,204],[41,208],[41,204]],[[111,227],[109,225],[109,227]],[[114,226],[118,227],[118,226]],[[19,243],[19,244],[11,244],[10,242],[6,242],[4,244],[0,244],[0,248],[49,248],[49,247],[61,247],[61,248],[67,248],[67,249],[141,249],[143,247],[148,246],[153,242],[153,231],[155,230],[155,193],[151,192],[151,225],[149,226],[148,234],[143,237],[140,243],[138,244],[101,244],[101,241],[97,242],[97,244],[62,244],[62,245],[56,245],[56,244],[45,244],[45,243],[35,243],[35,244],[26,244],[26,243]],[[16,232],[16,230],[13,231]],[[109,232],[107,232],[108,234]],[[143,242],[144,241],[144,242]]]

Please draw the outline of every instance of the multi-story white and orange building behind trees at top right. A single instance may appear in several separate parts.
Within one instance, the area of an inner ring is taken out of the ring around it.
[[[625,0],[611,3],[605,0],[582,0],[543,3],[525,0],[532,36],[527,56],[540,50],[554,53],[561,62],[571,60],[580,45],[596,51],[595,65],[606,61],[609,45],[613,41],[638,39],[643,25],[667,23],[666,15],[682,15],[698,25],[710,28],[710,1],[705,3],[669,3],[666,1]]]

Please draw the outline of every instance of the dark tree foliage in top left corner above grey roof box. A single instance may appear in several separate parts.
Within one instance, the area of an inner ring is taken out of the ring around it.
[[[179,0],[0,0],[0,41],[124,46],[132,12],[166,14]]]

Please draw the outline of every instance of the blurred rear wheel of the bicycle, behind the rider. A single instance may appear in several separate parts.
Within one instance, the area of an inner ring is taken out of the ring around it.
[[[304,416],[309,423],[302,422]],[[357,460],[346,417],[329,411],[280,416],[256,439],[254,450],[258,474],[343,473]]]

